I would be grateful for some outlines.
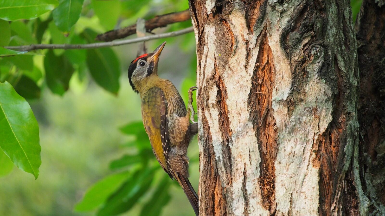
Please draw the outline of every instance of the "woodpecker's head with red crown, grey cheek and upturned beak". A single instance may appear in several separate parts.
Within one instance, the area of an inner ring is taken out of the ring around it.
[[[157,47],[154,52],[138,56],[128,68],[128,79],[132,90],[138,93],[151,76],[157,76],[159,56],[166,42]]]

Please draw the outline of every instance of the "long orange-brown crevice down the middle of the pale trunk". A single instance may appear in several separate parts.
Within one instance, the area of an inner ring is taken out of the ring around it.
[[[271,107],[275,69],[272,61],[266,29],[261,34],[261,44],[251,78],[248,99],[250,119],[258,140],[261,163],[259,164],[259,189],[263,207],[275,212],[275,159],[277,153],[277,128]]]

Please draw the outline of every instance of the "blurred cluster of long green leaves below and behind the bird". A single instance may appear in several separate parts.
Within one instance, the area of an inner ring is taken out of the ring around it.
[[[96,211],[99,216],[117,215],[141,203],[141,214],[159,215],[170,201],[173,183],[157,164],[141,121],[120,128],[130,141],[124,144],[130,154],[110,162],[114,171],[99,180],[85,193],[75,211]]]

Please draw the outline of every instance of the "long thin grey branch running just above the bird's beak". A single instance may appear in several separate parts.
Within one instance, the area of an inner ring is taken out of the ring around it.
[[[167,32],[167,33],[161,33],[156,35],[149,35],[146,37],[111,41],[111,42],[88,43],[88,44],[31,44],[31,45],[23,45],[23,46],[9,46],[4,48],[10,49],[10,50],[17,50],[17,51],[31,51],[31,50],[43,50],[43,49],[64,49],[64,50],[93,49],[93,48],[102,48],[102,47],[114,47],[114,46],[129,44],[129,43],[138,43],[138,42],[144,42],[144,41],[160,39],[160,38],[175,37],[178,35],[183,35],[183,34],[192,32],[193,30],[194,29],[192,27],[188,27],[188,28],[184,28],[182,30],[178,30],[174,32]]]

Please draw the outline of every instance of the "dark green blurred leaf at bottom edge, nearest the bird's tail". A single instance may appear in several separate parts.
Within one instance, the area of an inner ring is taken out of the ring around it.
[[[169,194],[170,183],[172,180],[166,174],[160,181],[156,191],[151,199],[144,204],[140,216],[158,216],[162,213],[162,208],[170,201]]]

